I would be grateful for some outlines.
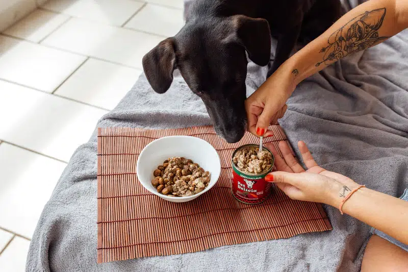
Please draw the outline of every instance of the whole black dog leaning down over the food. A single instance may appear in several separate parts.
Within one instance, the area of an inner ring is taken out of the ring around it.
[[[158,93],[167,91],[179,69],[205,103],[218,135],[237,142],[246,131],[245,52],[265,66],[275,38],[271,75],[296,42],[318,37],[342,13],[340,0],[196,0],[180,32],[143,57],[143,69]]]

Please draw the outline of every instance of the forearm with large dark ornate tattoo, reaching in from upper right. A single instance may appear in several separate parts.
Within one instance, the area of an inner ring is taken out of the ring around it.
[[[352,9],[282,66],[297,85],[347,55],[374,46],[408,28],[408,1],[370,0]]]

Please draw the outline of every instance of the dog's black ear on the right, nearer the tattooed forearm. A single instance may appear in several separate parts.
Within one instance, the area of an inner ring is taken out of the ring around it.
[[[267,65],[271,55],[271,33],[268,21],[245,15],[233,17],[237,38],[244,46],[249,59],[260,66]]]

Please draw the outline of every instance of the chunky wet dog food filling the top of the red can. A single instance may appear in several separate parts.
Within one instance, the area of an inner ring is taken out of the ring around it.
[[[272,165],[272,155],[268,151],[259,151],[256,146],[245,146],[237,151],[233,158],[238,169],[247,174],[262,174]]]

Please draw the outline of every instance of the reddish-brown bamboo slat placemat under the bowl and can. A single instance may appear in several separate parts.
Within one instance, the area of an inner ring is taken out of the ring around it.
[[[278,141],[287,141],[280,126],[270,129],[275,135],[265,142],[277,147]],[[217,184],[187,203],[162,200],[145,190],[137,179],[136,161],[143,147],[170,135],[204,139],[221,158]],[[331,230],[320,204],[291,200],[275,186],[268,200],[259,205],[243,204],[234,198],[232,152],[240,145],[256,142],[258,138],[246,133],[240,142],[228,144],[212,127],[98,128],[97,262],[191,253]]]

